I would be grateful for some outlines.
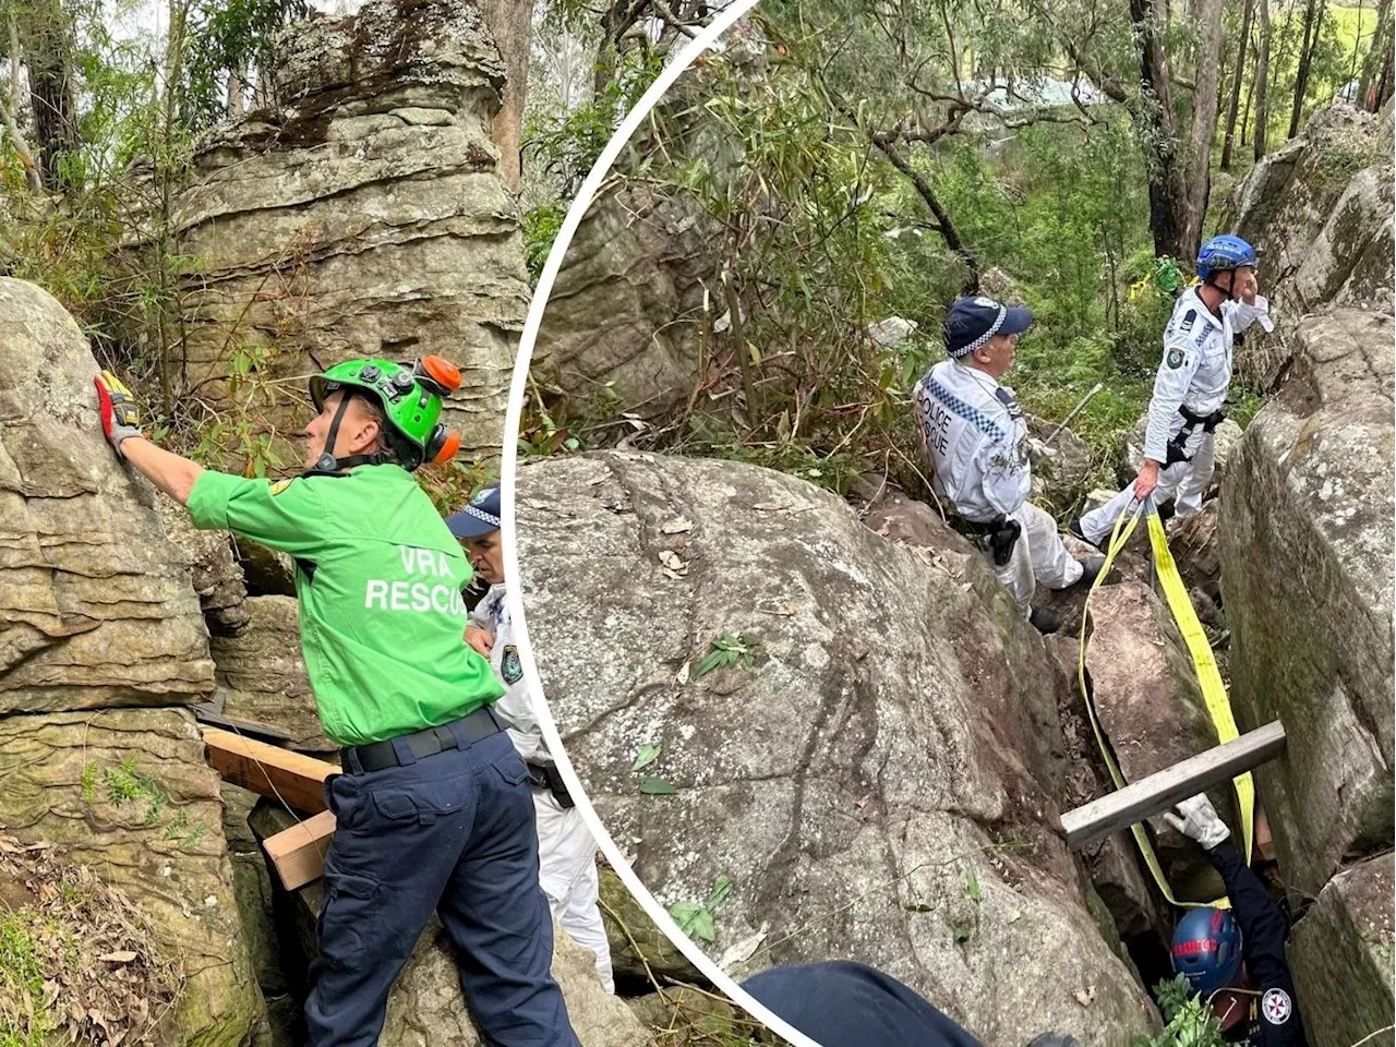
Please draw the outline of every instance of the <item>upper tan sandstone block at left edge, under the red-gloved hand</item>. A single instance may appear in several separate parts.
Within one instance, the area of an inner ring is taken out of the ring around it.
[[[96,373],[53,297],[0,279],[0,713],[174,705],[214,685],[184,558],[102,438]]]

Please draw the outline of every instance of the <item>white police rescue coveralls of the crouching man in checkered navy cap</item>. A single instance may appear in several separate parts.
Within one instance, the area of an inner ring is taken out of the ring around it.
[[[912,395],[935,466],[935,493],[973,524],[1004,515],[1022,526],[1007,564],[995,564],[987,549],[986,556],[1023,616],[1032,613],[1037,582],[1065,589],[1079,581],[1082,565],[1062,544],[1057,521],[1027,501],[1033,487],[1027,422],[1013,391],[984,371],[942,360]]]

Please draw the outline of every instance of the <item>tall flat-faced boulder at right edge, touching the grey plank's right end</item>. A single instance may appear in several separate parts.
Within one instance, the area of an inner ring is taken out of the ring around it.
[[[1312,896],[1396,843],[1396,317],[1307,320],[1222,497],[1222,593],[1241,727],[1284,722],[1256,771],[1286,881]]]

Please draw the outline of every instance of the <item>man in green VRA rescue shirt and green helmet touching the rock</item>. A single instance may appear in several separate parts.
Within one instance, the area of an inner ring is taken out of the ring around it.
[[[204,469],[141,436],[134,398],[96,380],[117,456],[183,503],[195,526],[296,561],[300,642],[343,773],[327,780],[311,1047],[367,1047],[433,912],[461,956],[484,1039],[578,1047],[553,981],[528,768],[491,711],[503,687],[461,642],[470,567],[412,477],[459,440],[440,424],[459,371],[350,360],[310,381],[309,470],[257,480]]]

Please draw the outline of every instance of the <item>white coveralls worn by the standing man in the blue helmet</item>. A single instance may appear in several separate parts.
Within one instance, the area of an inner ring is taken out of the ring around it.
[[[1259,321],[1266,331],[1275,324],[1268,314],[1269,304],[1256,296],[1255,304],[1223,302],[1217,318],[1189,288],[1178,296],[1173,318],[1163,332],[1163,362],[1153,380],[1153,399],[1149,401],[1149,426],[1145,430],[1143,456],[1160,463],[1154,503],[1175,500],[1175,515],[1187,519],[1202,511],[1202,496],[1212,482],[1216,455],[1216,433],[1202,424],[1189,423],[1181,413],[1187,408],[1194,417],[1208,416],[1222,409],[1231,384],[1231,345],[1234,334]],[[1168,443],[1184,429],[1185,461],[1167,465]],[[1114,498],[1081,518],[1081,532],[1087,542],[1101,544],[1108,540],[1115,521],[1135,504],[1131,482]]]

